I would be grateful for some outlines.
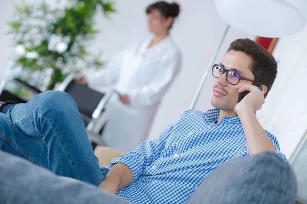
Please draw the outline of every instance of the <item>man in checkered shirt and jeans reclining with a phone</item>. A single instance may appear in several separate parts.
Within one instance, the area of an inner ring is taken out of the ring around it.
[[[0,147],[133,203],[184,203],[210,172],[229,160],[269,150],[287,161],[255,116],[276,74],[277,63],[267,50],[249,39],[235,40],[220,65],[212,67],[216,109],[186,111],[158,139],[114,159],[105,176],[76,105],[62,92],[42,93],[1,114]],[[246,90],[250,93],[237,103],[238,93]]]

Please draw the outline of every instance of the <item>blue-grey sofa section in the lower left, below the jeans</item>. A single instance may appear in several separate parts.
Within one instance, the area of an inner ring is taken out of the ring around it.
[[[127,204],[115,195],[79,182],[66,180],[30,162],[0,151],[0,202]]]

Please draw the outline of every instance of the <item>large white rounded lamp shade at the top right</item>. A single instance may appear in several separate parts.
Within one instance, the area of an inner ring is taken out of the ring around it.
[[[215,0],[215,6],[229,25],[261,37],[293,35],[307,19],[307,0]]]

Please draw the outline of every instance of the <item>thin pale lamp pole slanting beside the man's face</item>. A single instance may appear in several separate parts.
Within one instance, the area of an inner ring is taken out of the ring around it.
[[[204,84],[206,82],[208,72],[211,71],[213,62],[215,61],[215,58],[216,58],[218,52],[220,51],[220,48],[221,48],[221,46],[222,46],[222,44],[223,44],[223,42],[225,40],[225,37],[226,37],[226,35],[227,35],[228,31],[229,31],[229,28],[230,28],[230,25],[227,25],[227,27],[226,27],[226,29],[225,29],[225,31],[223,33],[223,36],[222,36],[222,38],[220,40],[220,43],[217,45],[217,47],[216,47],[216,49],[215,49],[215,51],[214,51],[214,53],[213,53],[213,55],[211,57],[211,60],[209,62],[208,68],[207,68],[207,71],[205,71],[205,73],[203,75],[203,78],[202,78],[202,81],[201,81],[201,83],[200,83],[200,85],[199,85],[199,87],[198,87],[198,89],[197,89],[197,91],[196,91],[196,93],[194,95],[192,103],[191,103],[191,105],[189,107],[189,109],[191,109],[191,110],[193,110],[195,108],[196,102],[198,101],[198,98],[199,98],[199,96],[201,94],[203,86],[204,86]]]

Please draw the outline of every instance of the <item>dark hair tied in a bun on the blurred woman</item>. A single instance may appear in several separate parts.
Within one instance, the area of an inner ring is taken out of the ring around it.
[[[160,11],[160,13],[165,17],[173,17],[176,18],[179,15],[180,12],[180,6],[179,4],[173,2],[171,4],[161,1],[156,2],[154,4],[151,4],[147,7],[146,13],[150,13],[153,9],[157,9]]]

